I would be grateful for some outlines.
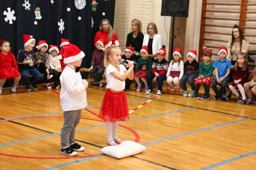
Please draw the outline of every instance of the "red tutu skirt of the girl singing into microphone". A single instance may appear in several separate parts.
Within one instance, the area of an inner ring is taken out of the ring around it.
[[[107,122],[129,120],[125,91],[115,93],[106,89],[98,117]]]

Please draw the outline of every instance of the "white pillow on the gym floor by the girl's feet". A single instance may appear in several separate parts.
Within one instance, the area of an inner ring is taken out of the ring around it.
[[[118,146],[107,146],[101,149],[102,152],[108,156],[121,159],[127,156],[133,156],[146,150],[146,147],[137,142],[126,140]]]

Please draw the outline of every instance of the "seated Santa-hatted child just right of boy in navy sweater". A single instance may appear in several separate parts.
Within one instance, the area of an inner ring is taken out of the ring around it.
[[[46,52],[48,49],[48,44],[45,40],[41,40],[38,42],[36,48],[38,49],[38,52],[33,54],[35,68],[38,69],[40,73],[45,75],[46,87],[47,89],[51,89],[48,80],[50,80],[50,78],[54,75],[50,74],[49,69],[46,68],[46,61],[49,57],[49,54]]]

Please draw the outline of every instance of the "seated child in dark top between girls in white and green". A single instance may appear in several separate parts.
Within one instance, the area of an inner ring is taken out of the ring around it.
[[[195,85],[194,79],[198,77],[199,65],[197,61],[197,51],[192,49],[186,55],[187,61],[184,63],[184,75],[181,79],[183,96],[184,97],[194,97]],[[186,81],[189,82],[191,87],[191,92],[188,94],[186,89]]]

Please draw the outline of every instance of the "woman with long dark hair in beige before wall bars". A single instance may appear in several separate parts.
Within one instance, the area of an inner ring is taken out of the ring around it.
[[[238,53],[248,52],[249,42],[243,36],[242,29],[238,25],[234,25],[232,29],[232,39],[226,45],[228,49],[227,59],[234,65],[237,61]]]

